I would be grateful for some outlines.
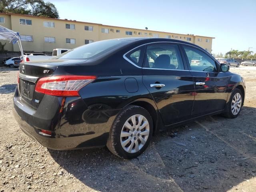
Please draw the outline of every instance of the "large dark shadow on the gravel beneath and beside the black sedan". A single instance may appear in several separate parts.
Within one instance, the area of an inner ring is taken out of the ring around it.
[[[236,119],[209,116],[158,133],[138,158],[107,148],[55,151],[52,158],[98,191],[227,191],[256,176],[256,108]]]

